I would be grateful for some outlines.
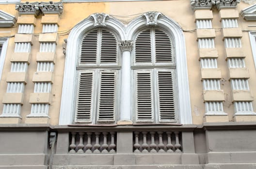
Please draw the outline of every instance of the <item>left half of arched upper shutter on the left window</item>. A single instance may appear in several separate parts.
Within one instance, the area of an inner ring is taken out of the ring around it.
[[[87,33],[81,42],[80,63],[96,64],[97,61],[98,29]]]

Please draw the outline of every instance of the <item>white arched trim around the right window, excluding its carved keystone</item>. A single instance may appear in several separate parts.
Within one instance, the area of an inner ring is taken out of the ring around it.
[[[170,33],[174,41],[176,54],[176,72],[178,81],[178,103],[179,103],[179,123],[192,124],[192,112],[190,104],[189,79],[186,58],[185,38],[181,27],[172,19],[160,15],[158,26]],[[134,37],[136,30],[145,27],[146,19],[140,16],[132,20],[127,27],[128,40]]]

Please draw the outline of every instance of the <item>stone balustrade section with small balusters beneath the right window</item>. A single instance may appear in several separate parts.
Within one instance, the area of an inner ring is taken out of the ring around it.
[[[135,131],[133,132],[134,153],[180,153],[181,132],[179,131]]]

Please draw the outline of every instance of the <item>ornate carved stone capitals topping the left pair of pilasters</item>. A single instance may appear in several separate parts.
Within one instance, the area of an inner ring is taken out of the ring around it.
[[[15,9],[19,14],[62,14],[63,13],[63,3],[62,2],[25,2],[16,3]]]

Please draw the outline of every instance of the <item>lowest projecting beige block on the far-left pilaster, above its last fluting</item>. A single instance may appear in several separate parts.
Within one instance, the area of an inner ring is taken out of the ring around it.
[[[23,99],[23,93],[5,93],[3,95],[2,103],[23,104]]]

